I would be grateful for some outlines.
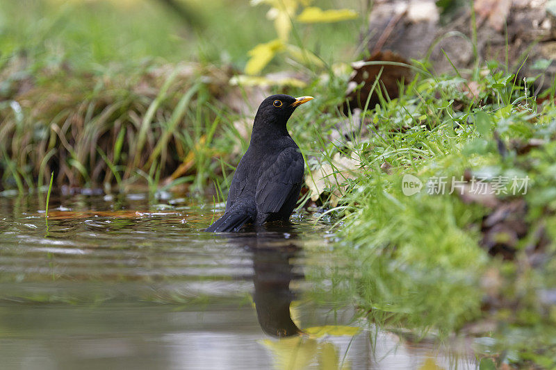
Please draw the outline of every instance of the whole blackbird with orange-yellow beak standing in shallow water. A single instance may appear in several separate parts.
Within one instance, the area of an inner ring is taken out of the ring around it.
[[[206,231],[232,232],[244,224],[288,221],[300,195],[305,163],[286,123],[297,106],[311,99],[278,94],[263,100],[249,148],[231,180],[226,211]]]

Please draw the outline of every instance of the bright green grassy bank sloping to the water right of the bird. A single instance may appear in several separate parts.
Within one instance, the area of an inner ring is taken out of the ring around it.
[[[368,134],[327,147],[358,162],[338,181],[337,249],[350,263],[332,273],[333,294],[390,330],[493,337],[477,356],[553,366],[555,104],[496,66],[477,75],[420,74],[400,98],[363,112]],[[404,194],[408,174],[420,192]],[[445,190],[434,194],[439,178]],[[472,178],[508,181],[471,196]],[[514,192],[512,178],[528,178],[528,190]],[[477,333],[477,322],[491,329]]]

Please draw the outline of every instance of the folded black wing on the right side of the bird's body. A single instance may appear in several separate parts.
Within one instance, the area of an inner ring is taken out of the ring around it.
[[[303,156],[297,149],[281,151],[275,162],[263,171],[257,183],[257,212],[278,212],[292,189],[302,183],[304,167]]]

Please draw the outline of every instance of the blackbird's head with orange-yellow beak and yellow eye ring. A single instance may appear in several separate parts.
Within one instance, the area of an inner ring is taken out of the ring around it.
[[[265,125],[276,124],[285,127],[295,108],[311,99],[313,96],[300,96],[299,98],[284,94],[268,96],[259,106],[255,122],[260,121]]]

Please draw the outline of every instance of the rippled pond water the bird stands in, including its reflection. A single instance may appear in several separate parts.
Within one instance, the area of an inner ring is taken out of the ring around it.
[[[2,369],[475,367],[315,294],[349,263],[327,220],[212,235],[212,205],[54,196],[47,229],[42,198],[0,196]]]

